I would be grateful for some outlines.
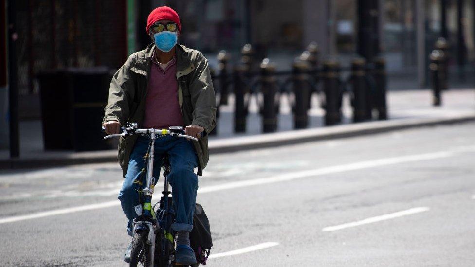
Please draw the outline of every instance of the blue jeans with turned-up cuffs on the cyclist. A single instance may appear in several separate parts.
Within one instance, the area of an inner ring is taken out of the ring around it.
[[[130,155],[126,178],[119,192],[122,210],[128,218],[127,232],[132,236],[132,221],[137,217],[134,206],[139,205],[139,192],[143,185],[134,183],[144,167],[144,159],[149,140],[139,137]],[[166,135],[155,140],[155,159],[153,162],[153,176],[155,182],[160,175],[162,156],[168,153],[171,171],[168,181],[172,187],[173,206],[176,222],[172,225],[175,231],[191,231],[193,229],[193,214],[195,212],[196,191],[198,190],[198,176],[193,169],[198,166],[198,156],[193,143],[185,138]],[[160,193],[162,189],[155,189]]]

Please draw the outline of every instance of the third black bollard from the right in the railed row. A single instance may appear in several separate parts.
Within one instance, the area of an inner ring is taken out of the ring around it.
[[[325,125],[341,121],[340,64],[328,60],[323,63],[323,90],[325,92]]]

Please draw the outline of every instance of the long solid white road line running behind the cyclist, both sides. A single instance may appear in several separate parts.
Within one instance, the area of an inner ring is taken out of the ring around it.
[[[299,178],[322,176],[322,175],[328,175],[328,174],[334,174],[334,173],[340,173],[340,172],[356,171],[356,170],[361,170],[361,169],[399,164],[399,163],[405,163],[405,162],[447,158],[447,157],[453,156],[454,154],[455,152],[440,151],[440,152],[434,152],[434,153],[416,154],[416,155],[386,158],[386,159],[379,159],[379,160],[360,161],[360,162],[355,162],[355,163],[350,163],[350,164],[324,167],[320,169],[305,170],[305,171],[300,171],[300,172],[290,172],[290,173],[267,177],[267,178],[257,178],[257,179],[229,182],[229,183],[220,184],[220,185],[205,186],[205,187],[198,188],[198,194],[210,193],[210,192],[216,192],[216,191],[234,189],[234,188],[240,188],[240,187],[289,181],[289,180],[294,180],[294,179],[299,179]],[[108,208],[108,207],[116,206],[116,205],[120,205],[120,202],[118,200],[103,202],[99,204],[77,206],[77,207],[71,207],[71,208],[65,208],[65,209],[59,209],[59,210],[40,212],[36,214],[18,215],[18,216],[0,218],[0,224],[23,221],[23,220],[28,220],[28,219],[35,219],[35,218],[46,217],[46,216],[59,215],[59,214],[68,214],[68,213],[75,213],[75,212],[81,212],[81,211],[87,211],[87,210],[102,209],[102,208]]]

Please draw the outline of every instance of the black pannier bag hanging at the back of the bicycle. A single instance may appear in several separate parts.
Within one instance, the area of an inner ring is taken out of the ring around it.
[[[190,246],[195,251],[197,262],[206,265],[206,260],[213,246],[213,241],[211,240],[208,217],[204,213],[203,207],[198,203],[196,203],[195,214],[193,215],[193,230],[190,232]]]

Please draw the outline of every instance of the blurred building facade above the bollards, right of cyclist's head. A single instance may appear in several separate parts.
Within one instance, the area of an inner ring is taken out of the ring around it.
[[[412,79],[413,88],[427,85],[427,55],[445,28],[451,73],[465,73],[470,83],[470,66],[475,59],[474,0],[377,1],[381,55],[395,79]],[[311,41],[316,41],[322,58],[347,63],[358,56],[357,0],[151,2],[153,6],[166,4],[177,9],[183,21],[181,41],[204,53],[225,49],[237,59],[239,49],[252,43],[263,49],[271,61],[274,58],[280,63],[289,58],[291,62]],[[454,82],[463,83],[461,76],[453,75]]]

